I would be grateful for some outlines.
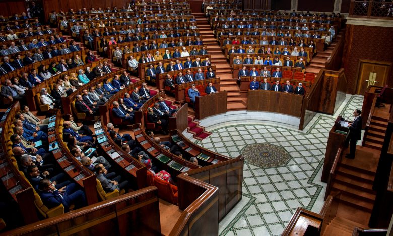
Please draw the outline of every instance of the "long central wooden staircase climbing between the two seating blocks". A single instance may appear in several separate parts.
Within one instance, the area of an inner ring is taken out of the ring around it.
[[[208,46],[207,50],[212,55],[212,64],[216,65],[216,76],[221,79],[220,91],[228,91],[228,111],[245,110],[247,107],[247,98],[241,97],[240,86],[237,84],[236,79],[232,77],[232,67],[229,65],[221,47],[218,45],[207,18],[204,16],[204,13],[192,14],[197,19],[200,34],[203,35],[203,43]]]

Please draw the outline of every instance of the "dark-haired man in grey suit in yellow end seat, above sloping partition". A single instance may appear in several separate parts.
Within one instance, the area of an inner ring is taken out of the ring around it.
[[[119,191],[121,191],[121,189],[125,189],[125,192],[128,192],[128,180],[119,183],[121,181],[121,176],[118,175],[115,177],[116,173],[108,174],[108,171],[101,163],[94,166],[94,171],[96,172],[96,177],[100,181],[105,192],[113,192],[115,189]]]

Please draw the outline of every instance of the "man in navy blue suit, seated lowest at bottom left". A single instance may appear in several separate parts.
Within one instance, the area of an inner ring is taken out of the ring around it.
[[[42,203],[50,208],[63,204],[64,211],[68,212],[69,207],[74,204],[78,209],[86,205],[85,193],[77,189],[75,183],[56,189],[48,179],[41,179],[38,184],[38,195],[41,197]],[[60,196],[60,193],[62,196]]]

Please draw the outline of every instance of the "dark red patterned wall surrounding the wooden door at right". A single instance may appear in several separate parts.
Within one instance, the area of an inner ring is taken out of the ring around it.
[[[347,25],[343,53],[347,93],[356,92],[356,74],[360,59],[393,62],[393,47],[389,46],[392,38],[393,28],[390,27]],[[392,75],[393,68],[388,75],[389,87],[393,86]]]

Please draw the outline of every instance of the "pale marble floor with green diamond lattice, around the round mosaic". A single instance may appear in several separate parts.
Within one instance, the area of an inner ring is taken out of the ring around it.
[[[245,160],[243,197],[220,222],[220,236],[281,235],[297,207],[319,213],[326,188],[320,176],[329,130],[338,115],[350,117],[362,104],[362,96],[347,95],[333,116],[317,114],[303,131],[297,130],[293,117],[277,120],[269,113],[239,111],[201,120],[212,132],[202,141],[184,133],[198,145],[228,157],[260,143],[279,146],[289,155],[280,166],[265,168]]]

